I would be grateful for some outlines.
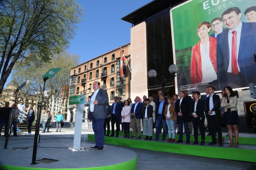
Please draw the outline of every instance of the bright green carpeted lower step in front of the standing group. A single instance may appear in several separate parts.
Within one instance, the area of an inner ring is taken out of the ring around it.
[[[210,136],[209,136],[210,137]],[[88,134],[88,140],[94,141],[94,135]],[[209,141],[210,142],[210,141]],[[240,141],[239,141],[240,142]],[[105,144],[121,145],[139,149],[154,150],[169,153],[179,153],[192,156],[203,156],[208,158],[230,159],[238,161],[256,162],[256,150],[211,147],[200,145],[174,144],[165,142],[144,141],[137,139],[124,139],[105,137]]]

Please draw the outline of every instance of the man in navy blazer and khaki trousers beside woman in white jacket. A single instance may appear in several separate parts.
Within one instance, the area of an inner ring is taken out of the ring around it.
[[[141,127],[140,120],[142,119],[143,104],[140,102],[140,97],[135,98],[135,103],[131,106],[131,125],[132,136],[130,138],[136,138],[136,124],[138,127],[138,139],[141,139]]]

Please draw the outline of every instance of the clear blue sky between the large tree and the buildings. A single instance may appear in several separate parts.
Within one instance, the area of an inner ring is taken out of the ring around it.
[[[80,63],[131,42],[131,23],[121,20],[152,0],[78,0],[84,16],[67,51]],[[74,65],[75,66],[75,65]],[[6,85],[12,80],[12,75]],[[22,82],[20,82],[22,83]]]

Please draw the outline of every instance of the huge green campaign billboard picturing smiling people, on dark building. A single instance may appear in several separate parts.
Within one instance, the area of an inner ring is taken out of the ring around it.
[[[256,83],[256,0],[191,0],[171,20],[178,90]]]

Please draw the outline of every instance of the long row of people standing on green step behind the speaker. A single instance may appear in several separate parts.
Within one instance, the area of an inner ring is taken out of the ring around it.
[[[238,128],[239,117],[237,108],[237,97],[234,94],[232,88],[227,86],[224,88],[225,94],[220,98],[219,95],[214,94],[215,86],[210,85],[205,89],[206,95],[200,97],[199,91],[192,92],[192,97],[187,95],[186,89],[179,91],[178,94],[165,97],[162,91],[158,92],[158,98],[156,103],[153,102],[153,98],[143,96],[143,101],[140,101],[140,97],[137,96],[131,102],[128,98],[124,103],[118,101],[119,97],[114,97],[114,103],[109,108],[107,121],[111,118],[112,133],[109,135],[105,133],[105,136],[119,136],[120,123],[123,124],[125,136],[123,138],[137,138],[136,130],[138,131],[138,138],[141,139],[141,133],[145,136],[144,140],[152,140],[152,133],[156,128],[155,141],[160,140],[160,133],[163,128],[162,141],[166,140],[168,133],[168,142],[175,142],[175,130],[176,125],[179,131],[179,139],[177,143],[183,142],[183,127],[186,133],[186,144],[190,143],[191,130],[189,127],[193,127],[195,142],[193,144],[199,144],[198,133],[201,133],[201,145],[205,144],[205,119],[208,122],[209,134],[212,136],[212,141],[209,145],[222,143],[221,132],[221,108],[224,110],[223,123],[227,125],[228,133],[230,136],[230,147],[238,147]],[[108,110],[108,109],[107,109]],[[143,120],[143,131],[141,131],[141,119]],[[121,120],[121,121],[120,121]],[[110,122],[110,121],[109,121]],[[192,123],[191,123],[192,122]],[[132,136],[130,136],[130,123],[132,125]],[[114,135],[114,124],[116,124],[116,135]],[[106,130],[106,126],[105,126]],[[233,142],[233,130],[235,134],[235,144]],[[199,131],[199,132],[198,132]],[[106,132],[106,131],[105,131]],[[216,133],[218,133],[218,140],[216,140]]]

